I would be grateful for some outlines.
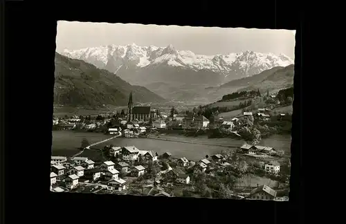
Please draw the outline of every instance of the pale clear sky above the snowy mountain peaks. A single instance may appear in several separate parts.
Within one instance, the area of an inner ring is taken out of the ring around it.
[[[283,53],[294,59],[295,30],[157,26],[58,21],[57,52],[64,49],[107,46],[166,47],[191,50],[200,55],[226,55],[253,50],[259,53]]]

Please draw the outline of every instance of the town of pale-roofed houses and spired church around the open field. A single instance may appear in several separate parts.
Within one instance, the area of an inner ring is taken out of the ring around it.
[[[98,131],[114,138],[160,138],[161,133],[169,129],[195,135],[205,131],[215,134],[215,130],[221,130],[245,142],[237,149],[226,149],[196,161],[175,158],[169,151],[158,155],[136,146],[110,144],[100,149],[102,158],[93,161],[79,156],[91,151],[91,144],[86,141],[77,156],[52,156],[51,191],[288,200],[289,159],[283,159],[284,152],[280,149],[258,145],[261,135],[253,131],[255,124],[269,122],[273,117],[275,122],[280,122],[287,115],[273,116],[270,108],[260,108],[244,110],[229,120],[219,118],[211,122],[203,111],[196,109],[182,114],[174,108],[167,113],[150,106],[134,106],[131,93],[127,113],[122,110],[94,118],[90,115],[54,118],[53,129]],[[282,160],[282,164],[278,160]],[[258,183],[256,186],[242,185],[248,175],[267,178],[277,184],[274,187]]]

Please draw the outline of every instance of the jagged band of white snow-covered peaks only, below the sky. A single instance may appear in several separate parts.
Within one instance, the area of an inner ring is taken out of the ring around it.
[[[289,66],[294,63],[293,59],[282,53],[275,55],[246,50],[228,55],[195,55],[190,50],[176,50],[172,44],[165,48],[137,46],[135,43],[126,46],[111,44],[80,50],[64,50],[62,54],[82,59],[111,72],[117,71],[122,65],[125,65],[126,68],[128,66],[140,68],[164,63],[168,66],[180,66],[194,71],[203,69],[221,73],[226,77],[234,71],[241,73],[242,76],[251,76],[275,66]]]

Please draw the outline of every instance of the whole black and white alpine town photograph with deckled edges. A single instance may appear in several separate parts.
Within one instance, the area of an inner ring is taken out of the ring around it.
[[[51,191],[289,200],[294,50],[295,30],[58,21]]]

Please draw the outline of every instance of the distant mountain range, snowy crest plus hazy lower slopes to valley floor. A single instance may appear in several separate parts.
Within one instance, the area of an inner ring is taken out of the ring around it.
[[[208,86],[221,86],[293,64],[293,59],[283,54],[247,50],[228,55],[197,55],[190,50],[176,50],[172,45],[165,48],[109,45],[64,50],[62,55],[115,73],[122,80],[145,86],[167,100],[201,103],[215,100],[206,95]]]

